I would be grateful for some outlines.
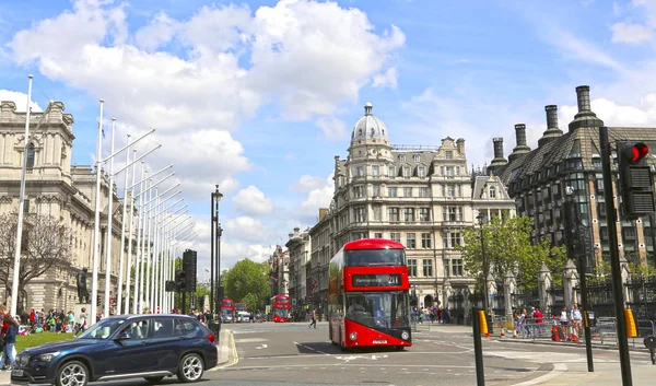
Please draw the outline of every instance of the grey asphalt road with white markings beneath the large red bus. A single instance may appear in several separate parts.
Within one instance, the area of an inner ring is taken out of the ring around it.
[[[227,363],[207,371],[199,385],[476,385],[473,342],[468,327],[443,326],[438,330],[417,332],[412,337],[413,346],[400,352],[363,350],[347,353],[328,341],[327,323],[319,323],[316,329],[308,329],[305,323],[223,327],[233,332],[234,339],[229,342],[233,355]],[[583,346],[484,339],[483,352],[485,385],[621,384],[613,378],[619,374],[617,350],[595,350],[596,373],[593,374],[586,372]],[[648,355],[632,352],[631,356],[636,374],[634,385],[652,385],[654,367]],[[640,372],[646,375],[640,375]],[[176,383],[176,378],[167,378],[160,385]],[[149,384],[137,379],[98,385]]]

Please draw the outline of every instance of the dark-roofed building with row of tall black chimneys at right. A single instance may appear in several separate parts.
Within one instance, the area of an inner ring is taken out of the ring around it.
[[[516,125],[517,147],[506,161],[503,140],[494,139],[494,160],[488,171],[507,186],[517,214],[531,219],[535,243],[547,237],[555,245],[570,244],[565,232],[565,203],[572,200],[574,221],[582,225],[574,234],[574,239],[583,241],[576,254],[585,256],[587,267],[591,269],[610,248],[599,151],[599,127],[604,126],[604,121],[590,108],[589,86],[576,87],[576,95],[578,113],[566,132],[563,133],[559,127],[558,106],[546,106],[547,130],[538,141],[538,148],[528,149],[526,127]],[[618,140],[645,141],[656,149],[656,128],[609,127],[608,131],[613,149]],[[654,169],[654,159],[649,157],[647,162]],[[613,172],[617,172],[617,161],[613,162]],[[612,183],[620,254],[629,260],[634,259],[634,262],[648,262],[656,267],[656,218],[626,220],[621,196],[618,195],[617,174]]]

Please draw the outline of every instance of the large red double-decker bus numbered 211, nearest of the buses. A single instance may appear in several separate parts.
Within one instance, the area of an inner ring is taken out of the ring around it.
[[[412,346],[410,281],[403,245],[364,238],[344,244],[330,260],[329,336],[342,350]]]

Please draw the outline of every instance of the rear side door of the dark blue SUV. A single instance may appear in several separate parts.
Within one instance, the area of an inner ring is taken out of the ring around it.
[[[149,346],[154,370],[174,371],[178,366],[183,346],[180,325],[173,317],[161,316],[153,318],[152,339]]]

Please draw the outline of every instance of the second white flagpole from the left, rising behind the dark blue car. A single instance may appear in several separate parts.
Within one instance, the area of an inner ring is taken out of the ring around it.
[[[96,189],[95,189],[95,219],[93,229],[93,271],[91,279],[91,323],[95,325],[97,320],[97,296],[98,296],[98,269],[101,254],[101,165],[103,162],[103,107],[105,101],[101,100],[101,115],[98,118],[98,133],[96,140]]]

